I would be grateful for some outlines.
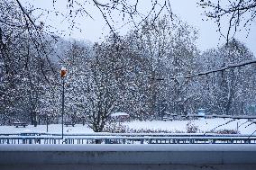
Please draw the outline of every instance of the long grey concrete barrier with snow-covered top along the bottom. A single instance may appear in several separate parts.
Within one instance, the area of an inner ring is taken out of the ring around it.
[[[0,169],[256,169],[255,145],[2,145]]]

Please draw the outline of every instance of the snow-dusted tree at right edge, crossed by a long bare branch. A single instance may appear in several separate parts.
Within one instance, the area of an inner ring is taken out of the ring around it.
[[[231,40],[220,49],[206,51],[200,59],[201,71],[206,71],[251,60],[253,55],[241,42]],[[201,85],[205,85],[200,95],[204,96],[202,101],[209,101],[201,105],[206,105],[213,113],[245,113],[246,103],[253,100],[255,94],[253,69],[253,65],[234,67],[201,77]]]

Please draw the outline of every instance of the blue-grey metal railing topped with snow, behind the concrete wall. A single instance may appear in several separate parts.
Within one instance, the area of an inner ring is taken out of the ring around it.
[[[5,135],[0,144],[256,144],[256,136],[197,134]]]

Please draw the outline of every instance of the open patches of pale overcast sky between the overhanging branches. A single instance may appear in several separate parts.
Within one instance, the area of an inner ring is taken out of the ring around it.
[[[101,0],[104,2],[105,0]],[[203,13],[202,9],[197,7],[197,2],[199,0],[170,0],[171,8],[173,13],[178,15],[178,17],[187,22],[188,24],[194,26],[199,31],[199,37],[197,40],[197,47],[201,51],[206,49],[216,48],[224,43],[224,38],[219,40],[220,34],[217,32],[217,27],[212,21],[203,21],[205,17],[201,14]],[[23,4],[29,2],[33,4],[34,7],[41,7],[43,9],[52,10],[52,0],[22,0]],[[59,0],[59,4],[56,5],[56,10],[62,11],[66,13],[66,0]],[[150,6],[151,1],[142,0],[143,7],[145,8]],[[149,3],[149,4],[147,4]],[[145,4],[145,5],[144,5]],[[91,10],[90,13],[93,15],[94,20],[89,17],[80,17],[78,22],[78,27],[81,28],[81,32],[77,29],[74,29],[69,36],[69,24],[67,22],[62,22],[62,18],[55,15],[48,15],[48,17],[44,18],[43,22],[46,24],[51,24],[57,28],[57,30],[66,31],[66,38],[75,38],[78,40],[90,40],[92,42],[96,42],[99,40],[103,40],[105,35],[109,32],[109,28],[105,24],[101,14],[95,9]],[[127,31],[127,29],[119,30],[121,32]],[[247,36],[247,31],[240,31],[235,36],[236,39],[244,42],[246,46],[251,49],[254,56],[256,56],[256,22],[252,22],[251,31]]]

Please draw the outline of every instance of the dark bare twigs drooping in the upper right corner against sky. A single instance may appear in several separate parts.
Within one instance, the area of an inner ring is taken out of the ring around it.
[[[205,1],[200,0],[198,3],[203,9],[208,19],[213,19],[218,25],[218,31],[221,35],[230,40],[237,31],[246,29],[250,31],[251,23],[256,17],[255,0],[233,0],[233,1]],[[228,30],[223,32],[223,23],[228,20]]]

